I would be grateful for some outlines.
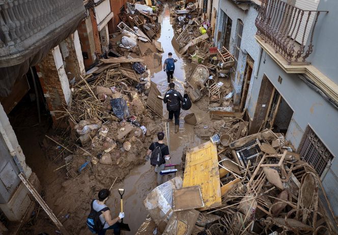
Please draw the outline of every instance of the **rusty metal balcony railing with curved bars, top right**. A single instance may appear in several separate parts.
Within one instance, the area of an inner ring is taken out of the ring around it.
[[[262,0],[256,18],[257,35],[289,64],[304,63],[313,52],[314,32],[321,12],[327,11],[307,11],[281,0]]]

